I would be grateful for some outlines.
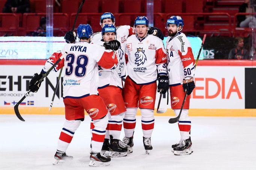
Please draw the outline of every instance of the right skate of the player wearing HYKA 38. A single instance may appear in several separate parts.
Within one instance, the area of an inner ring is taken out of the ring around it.
[[[99,152],[92,152],[90,155],[90,160],[91,161],[89,163],[89,166],[100,167],[110,165],[111,158],[106,157]]]

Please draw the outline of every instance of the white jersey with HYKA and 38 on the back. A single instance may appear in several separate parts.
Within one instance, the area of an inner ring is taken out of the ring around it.
[[[57,64],[55,71],[64,66],[63,98],[81,98],[98,94],[98,64],[106,69],[116,67],[116,53],[104,47],[79,42],[66,44],[61,52],[54,53],[42,71],[47,72],[64,52],[68,54]],[[98,64],[97,64],[98,63]]]

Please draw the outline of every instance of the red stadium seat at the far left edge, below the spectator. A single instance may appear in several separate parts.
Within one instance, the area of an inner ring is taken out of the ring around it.
[[[19,17],[14,13],[0,13],[0,36],[4,34],[18,34]]]

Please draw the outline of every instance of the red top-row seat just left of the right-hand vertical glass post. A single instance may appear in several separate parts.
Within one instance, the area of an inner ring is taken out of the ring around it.
[[[142,12],[142,1],[141,0],[124,0],[123,8],[124,8],[123,12],[125,13]]]

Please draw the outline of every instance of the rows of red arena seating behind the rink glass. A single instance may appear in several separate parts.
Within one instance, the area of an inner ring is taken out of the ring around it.
[[[1,9],[5,1],[0,0]],[[81,0],[60,0],[60,3],[59,7],[54,2],[54,36],[63,36],[66,30],[71,30]],[[75,28],[81,23],[89,23],[94,32],[100,31],[99,18],[103,12],[112,12],[117,26],[133,26],[136,16],[146,15],[146,3],[147,0],[86,0]],[[242,3],[243,0],[154,0],[154,26],[167,35],[166,19],[181,15],[185,22],[183,31],[195,36],[204,33],[211,36],[248,36],[251,29],[236,28],[236,13]],[[41,16],[45,16],[46,0],[30,0],[30,11],[13,15],[2,13],[0,34],[24,36],[35,31]]]

